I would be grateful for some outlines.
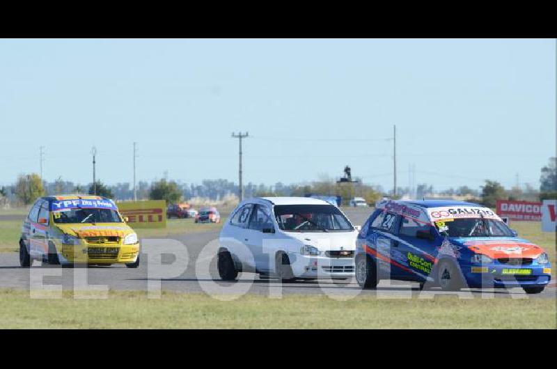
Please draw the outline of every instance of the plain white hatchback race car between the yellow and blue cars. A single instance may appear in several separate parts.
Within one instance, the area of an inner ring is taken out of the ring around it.
[[[225,281],[238,272],[294,279],[354,276],[359,227],[326,201],[266,197],[242,201],[219,237],[218,269]]]

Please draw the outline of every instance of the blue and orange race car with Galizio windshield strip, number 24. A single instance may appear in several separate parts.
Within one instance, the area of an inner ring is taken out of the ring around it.
[[[460,201],[381,201],[361,228],[355,258],[361,288],[395,279],[534,294],[551,279],[544,249],[517,237],[489,208]]]

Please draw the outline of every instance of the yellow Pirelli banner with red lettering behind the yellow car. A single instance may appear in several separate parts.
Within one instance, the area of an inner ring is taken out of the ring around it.
[[[166,228],[166,201],[122,201],[116,203],[132,228]]]

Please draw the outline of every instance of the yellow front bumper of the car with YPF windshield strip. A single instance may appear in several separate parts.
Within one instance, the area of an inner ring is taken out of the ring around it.
[[[127,264],[136,262],[140,244],[57,244],[62,264]]]

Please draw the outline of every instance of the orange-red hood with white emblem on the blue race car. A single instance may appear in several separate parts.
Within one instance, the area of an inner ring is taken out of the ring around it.
[[[474,253],[482,253],[492,259],[499,258],[538,258],[545,252],[540,246],[511,237],[453,238],[451,242],[460,244]]]

